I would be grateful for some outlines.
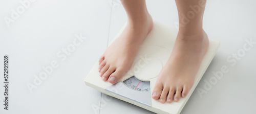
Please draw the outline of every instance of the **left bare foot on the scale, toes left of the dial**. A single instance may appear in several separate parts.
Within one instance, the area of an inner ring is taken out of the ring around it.
[[[140,44],[152,28],[150,14],[127,22],[121,35],[99,58],[99,72],[103,81],[116,83],[131,68]]]

